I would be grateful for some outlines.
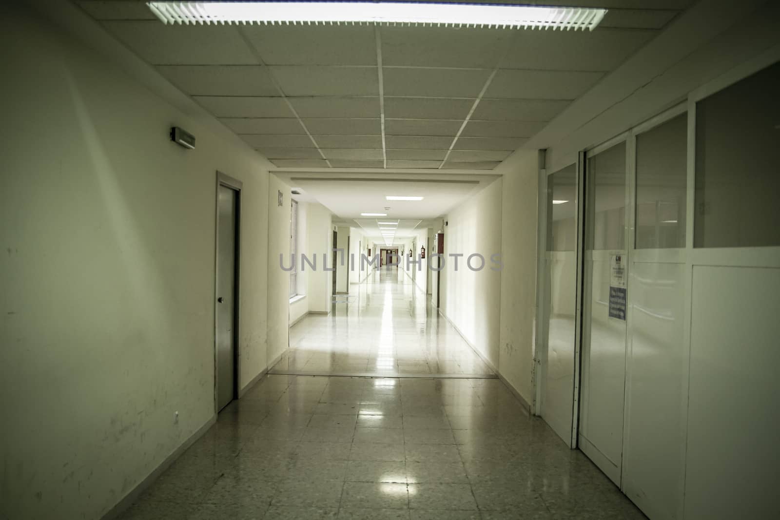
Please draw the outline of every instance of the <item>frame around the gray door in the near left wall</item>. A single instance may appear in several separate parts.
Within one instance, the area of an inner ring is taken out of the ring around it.
[[[225,188],[232,189],[236,192],[236,251],[235,251],[235,267],[233,269],[233,399],[239,398],[239,370],[240,356],[239,356],[239,327],[240,327],[240,278],[241,278],[241,190],[243,189],[243,182],[238,179],[234,179],[229,175],[217,170],[216,183],[214,190],[215,197],[215,232],[214,232],[214,412],[219,413],[219,401],[218,401],[218,367],[217,367],[217,298],[218,298],[218,267],[219,267],[219,187],[225,186]]]

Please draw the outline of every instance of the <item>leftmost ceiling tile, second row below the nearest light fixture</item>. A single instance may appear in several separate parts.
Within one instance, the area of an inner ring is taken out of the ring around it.
[[[260,65],[158,65],[158,71],[191,96],[278,96]]]

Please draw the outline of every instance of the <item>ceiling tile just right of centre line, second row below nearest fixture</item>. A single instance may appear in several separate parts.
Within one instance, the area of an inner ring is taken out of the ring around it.
[[[490,73],[484,69],[382,69],[385,96],[407,97],[476,98]]]

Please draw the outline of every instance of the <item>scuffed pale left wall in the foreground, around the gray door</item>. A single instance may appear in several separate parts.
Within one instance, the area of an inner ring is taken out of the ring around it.
[[[0,516],[98,518],[214,416],[217,170],[243,182],[239,384],[266,367],[275,186],[37,15],[6,9],[0,40]]]

